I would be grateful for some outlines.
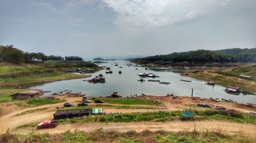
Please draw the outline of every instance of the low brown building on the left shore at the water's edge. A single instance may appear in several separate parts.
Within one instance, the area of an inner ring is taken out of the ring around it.
[[[26,100],[26,99],[36,98],[41,94],[42,93],[37,91],[26,91],[26,92],[13,94],[11,95],[11,97],[12,97],[12,100]]]

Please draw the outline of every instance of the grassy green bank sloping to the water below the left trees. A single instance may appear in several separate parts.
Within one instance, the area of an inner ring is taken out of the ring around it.
[[[2,62],[0,65],[0,87],[86,78],[91,75],[67,73],[67,70],[75,72],[77,68],[82,70],[91,68],[95,71],[102,69],[93,63],[84,61],[47,61],[18,65]]]

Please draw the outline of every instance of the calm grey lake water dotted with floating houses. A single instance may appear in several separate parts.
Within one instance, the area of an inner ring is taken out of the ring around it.
[[[114,63],[119,64],[119,66],[114,66]],[[214,97],[214,98],[224,98],[232,99],[238,103],[256,103],[255,95],[232,95],[227,94],[221,85],[211,85],[205,84],[206,81],[194,79],[191,77],[180,76],[179,73],[166,72],[166,71],[155,71],[155,70],[145,70],[144,67],[133,67],[126,66],[124,64],[129,64],[126,61],[108,61],[108,63],[98,64],[99,66],[110,67],[113,71],[112,74],[105,74],[105,70],[101,70],[92,74],[92,77],[83,79],[73,79],[56,81],[51,83],[45,83],[40,85],[34,85],[30,87],[31,89],[42,89],[44,91],[52,91],[51,93],[46,93],[49,95],[55,92],[63,90],[72,90],[74,93],[82,92],[87,94],[87,96],[110,96],[112,92],[117,91],[121,96],[126,97],[131,94],[144,93],[146,95],[166,95],[168,93],[174,93],[178,96],[191,96],[191,89],[194,89],[194,96],[198,97]],[[136,70],[138,68],[138,70]],[[118,71],[121,70],[122,74]],[[154,73],[160,77],[154,79],[159,79],[161,81],[170,82],[170,84],[159,84],[158,82],[148,82],[148,79],[153,79],[150,77],[144,78],[144,82],[137,81],[140,77],[137,75],[141,72]],[[106,78],[105,83],[89,83],[87,81],[98,74],[103,74]],[[180,79],[190,80],[192,82],[180,81]]]

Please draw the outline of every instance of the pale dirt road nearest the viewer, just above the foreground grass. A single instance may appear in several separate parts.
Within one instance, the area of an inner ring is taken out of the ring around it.
[[[141,132],[143,130],[166,130],[166,131],[220,131],[228,134],[245,134],[256,136],[256,125],[253,124],[243,124],[243,123],[232,123],[224,121],[195,121],[195,122],[140,122],[140,123],[83,123],[83,124],[65,124],[59,125],[55,128],[48,129],[35,129],[35,128],[26,128],[11,133],[20,133],[25,134],[29,132],[37,133],[60,133],[68,130],[81,130],[90,132],[96,129],[102,128],[103,130],[115,130],[119,132],[127,132],[130,130],[135,130]]]

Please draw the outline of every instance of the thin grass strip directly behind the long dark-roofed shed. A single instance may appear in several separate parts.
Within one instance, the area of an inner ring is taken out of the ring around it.
[[[150,106],[118,106],[118,105],[88,105],[88,106],[73,106],[73,107],[65,107],[59,110],[67,110],[67,109],[89,109],[89,108],[114,108],[114,109],[158,109],[157,107]]]

